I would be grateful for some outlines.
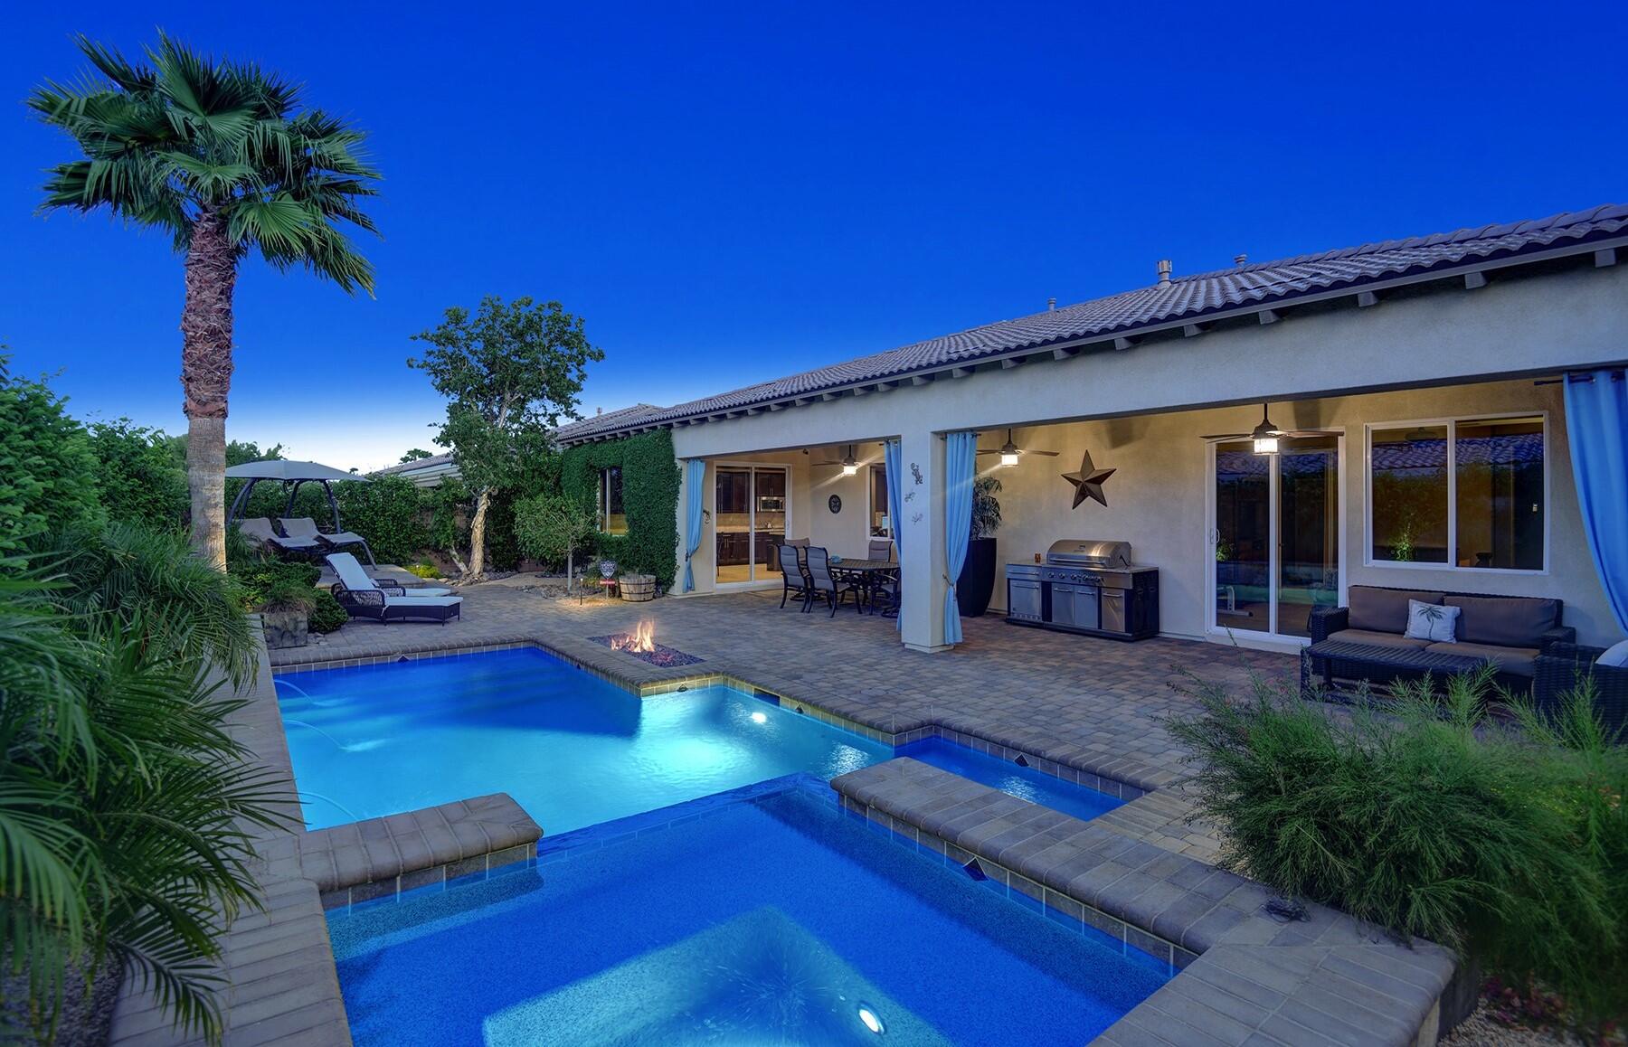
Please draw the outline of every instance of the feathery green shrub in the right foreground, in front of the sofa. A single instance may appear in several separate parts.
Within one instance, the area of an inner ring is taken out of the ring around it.
[[[1499,728],[1490,679],[1350,713],[1257,679],[1241,700],[1200,689],[1200,713],[1169,726],[1224,868],[1535,977],[1579,1019],[1628,1013],[1628,751],[1587,690],[1560,729],[1529,712]]]

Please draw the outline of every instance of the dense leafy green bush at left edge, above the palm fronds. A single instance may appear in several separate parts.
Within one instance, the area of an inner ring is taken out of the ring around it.
[[[8,363],[0,355],[0,557],[103,515],[85,427],[50,386],[11,378]]]

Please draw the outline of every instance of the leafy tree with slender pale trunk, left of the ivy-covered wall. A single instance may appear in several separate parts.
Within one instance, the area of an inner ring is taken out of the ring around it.
[[[583,321],[558,301],[480,300],[474,314],[453,306],[440,327],[415,334],[430,345],[415,366],[448,397],[436,443],[453,448],[464,482],[475,492],[469,521],[469,572],[485,570],[487,513],[493,492],[518,482],[527,456],[547,446],[562,418],[575,418],[588,363],[604,360],[583,334]]]

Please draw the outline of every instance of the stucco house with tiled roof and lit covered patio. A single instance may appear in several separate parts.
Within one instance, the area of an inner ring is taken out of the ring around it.
[[[1628,578],[1617,554],[1595,567],[1573,440],[1620,449],[1623,433],[1568,417],[1568,399],[1623,384],[1625,248],[1615,205],[1197,275],[1161,262],[1148,287],[584,418],[558,440],[671,430],[694,594],[778,586],[781,536],[842,555],[895,536],[917,650],[956,638],[946,508],[970,498],[957,433],[1001,480],[998,563],[1127,539],[1159,568],[1166,635],[1293,650],[1311,607],[1363,583],[1561,596],[1581,642],[1612,643],[1602,570],[1618,599]],[[1258,446],[1257,427],[1273,430]],[[1076,506],[1063,477],[1086,453],[1114,471],[1107,505]],[[1584,488],[1595,518],[1610,490]]]

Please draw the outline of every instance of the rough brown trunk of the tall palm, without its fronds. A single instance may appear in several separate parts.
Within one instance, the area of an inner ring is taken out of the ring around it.
[[[187,415],[187,490],[192,547],[226,570],[226,392],[231,389],[231,291],[238,256],[226,221],[205,210],[187,246],[181,308],[181,388]]]

